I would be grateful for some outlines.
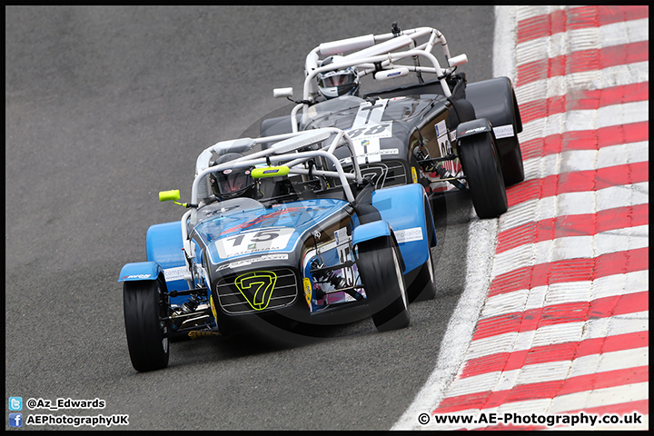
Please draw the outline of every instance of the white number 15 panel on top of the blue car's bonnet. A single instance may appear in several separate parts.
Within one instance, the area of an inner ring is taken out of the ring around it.
[[[239,233],[216,241],[216,249],[223,259],[247,253],[283,250],[292,233],[293,229],[289,228]]]

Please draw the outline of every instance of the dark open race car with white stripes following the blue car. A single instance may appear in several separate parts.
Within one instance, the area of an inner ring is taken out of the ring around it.
[[[447,67],[431,54],[434,45]],[[390,34],[323,43],[307,55],[302,100],[291,116],[264,120],[261,134],[342,129],[377,188],[470,189],[478,216],[497,217],[508,209],[506,186],[524,180],[520,110],[508,77],[467,84],[455,74],[467,62],[465,54],[451,57],[445,36],[431,27],[393,24]],[[425,81],[428,74],[435,80]],[[372,76],[366,88],[364,76]],[[395,85],[381,88],[387,80]],[[290,99],[292,88],[274,94]],[[352,168],[348,156],[339,157]]]

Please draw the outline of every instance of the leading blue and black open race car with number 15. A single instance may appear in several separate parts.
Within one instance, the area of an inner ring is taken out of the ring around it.
[[[350,155],[343,171],[338,155]],[[434,296],[431,208],[420,183],[376,189],[337,128],[242,138],[197,158],[181,222],[151,226],[147,262],[127,263],[124,321],[140,372],[171,340],[225,334],[248,319],[406,327]]]

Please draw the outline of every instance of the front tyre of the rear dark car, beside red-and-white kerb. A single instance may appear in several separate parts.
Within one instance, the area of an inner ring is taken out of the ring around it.
[[[480,218],[496,218],[509,209],[500,159],[490,134],[461,138],[461,166],[466,174],[472,205]]]

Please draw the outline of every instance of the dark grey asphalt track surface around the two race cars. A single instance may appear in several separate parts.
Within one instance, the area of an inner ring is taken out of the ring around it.
[[[103,399],[23,412],[128,414],[128,430],[390,429],[474,267],[467,195],[435,203],[440,291],[398,332],[365,320],[294,346],[263,334],[173,343],[167,369],[138,373],[117,279],[145,260],[150,225],[181,217],[157,193],[187,198],[199,152],[284,106],[272,88],[302,89],[314,46],[393,21],[438,28],[452,55],[468,54],[469,81],[490,78],[492,6],[6,7],[7,399]]]

